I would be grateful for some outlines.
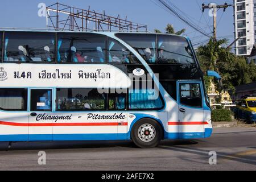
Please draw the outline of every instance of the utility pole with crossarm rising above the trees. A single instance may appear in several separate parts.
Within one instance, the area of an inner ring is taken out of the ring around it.
[[[217,9],[223,9],[225,10],[233,5],[228,5],[228,3],[225,3],[224,5],[216,5],[215,3],[209,3],[208,5],[202,4],[203,13],[205,9],[211,9],[212,15],[213,15],[213,40],[217,40]]]

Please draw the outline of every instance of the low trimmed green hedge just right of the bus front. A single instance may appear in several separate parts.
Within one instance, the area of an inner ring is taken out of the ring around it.
[[[212,110],[212,121],[232,121],[232,111],[226,109]]]

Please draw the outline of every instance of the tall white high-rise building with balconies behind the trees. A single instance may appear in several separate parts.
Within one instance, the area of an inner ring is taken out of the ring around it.
[[[256,0],[234,0],[234,38],[239,37],[236,55],[249,56],[256,39]]]

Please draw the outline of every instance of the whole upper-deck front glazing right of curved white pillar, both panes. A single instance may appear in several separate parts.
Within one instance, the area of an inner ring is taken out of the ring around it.
[[[130,44],[148,64],[195,64],[192,49],[182,36],[117,34]]]

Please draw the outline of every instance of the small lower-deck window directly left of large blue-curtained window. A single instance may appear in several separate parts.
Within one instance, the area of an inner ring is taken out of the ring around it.
[[[126,106],[126,94],[109,94],[109,110],[124,110]]]

